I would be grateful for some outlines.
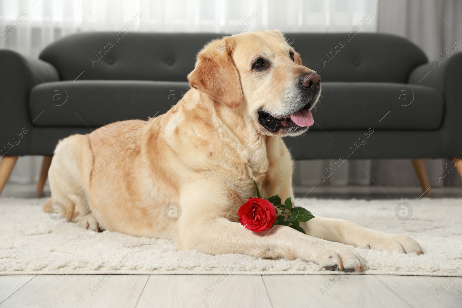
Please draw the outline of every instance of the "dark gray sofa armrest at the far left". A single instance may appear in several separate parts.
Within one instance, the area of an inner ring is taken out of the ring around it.
[[[43,60],[0,50],[0,155],[30,153],[32,121],[27,101],[39,83],[59,80],[55,67]]]

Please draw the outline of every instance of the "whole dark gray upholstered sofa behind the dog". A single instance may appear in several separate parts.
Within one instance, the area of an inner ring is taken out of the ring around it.
[[[0,50],[2,156],[50,156],[70,134],[166,112],[188,90],[196,53],[220,36],[79,33],[50,44],[40,60]],[[286,37],[322,77],[315,125],[285,139],[294,158],[462,156],[461,53],[438,65],[397,36]]]

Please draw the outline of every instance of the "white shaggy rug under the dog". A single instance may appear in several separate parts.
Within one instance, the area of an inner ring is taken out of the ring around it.
[[[339,273],[299,259],[213,256],[196,250],[178,251],[167,239],[96,233],[65,220],[54,221],[42,211],[43,202],[44,199],[0,199],[0,274]],[[408,202],[413,208],[413,217],[408,221],[395,215],[400,202]],[[425,254],[420,256],[357,248],[368,265],[360,274],[461,275],[462,199],[297,199],[296,204],[315,216],[344,218],[380,232],[411,236],[424,248]]]

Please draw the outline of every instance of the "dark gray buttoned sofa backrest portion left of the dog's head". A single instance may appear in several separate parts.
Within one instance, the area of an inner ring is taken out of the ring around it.
[[[74,80],[79,76],[78,80],[187,81],[197,52],[207,42],[222,36],[218,33],[77,33],[48,45],[40,59],[53,64],[61,80]]]

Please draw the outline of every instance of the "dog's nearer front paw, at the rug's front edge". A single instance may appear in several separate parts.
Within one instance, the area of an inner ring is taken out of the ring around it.
[[[328,270],[360,272],[364,269],[364,262],[353,247],[320,239],[317,241],[312,250],[314,263]]]

